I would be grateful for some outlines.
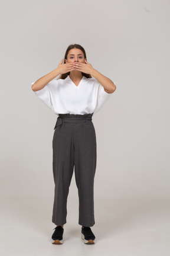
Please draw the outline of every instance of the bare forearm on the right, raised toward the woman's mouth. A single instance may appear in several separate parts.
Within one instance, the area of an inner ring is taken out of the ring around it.
[[[104,87],[104,89],[108,93],[109,92],[112,93],[116,90],[116,85],[112,82],[112,80],[110,80],[106,76],[102,75],[102,73],[100,73],[96,69],[92,69],[90,75],[92,75],[94,78],[96,78],[97,81],[99,81],[99,83]]]

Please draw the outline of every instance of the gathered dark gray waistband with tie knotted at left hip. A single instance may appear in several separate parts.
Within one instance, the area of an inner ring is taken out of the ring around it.
[[[57,122],[55,124],[54,130],[57,126],[61,126],[64,123],[77,123],[77,122],[87,122],[92,120],[92,114],[59,114],[57,117]]]

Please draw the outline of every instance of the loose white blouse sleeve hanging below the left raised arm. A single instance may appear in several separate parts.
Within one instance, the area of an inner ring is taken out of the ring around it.
[[[31,83],[31,86],[34,84],[35,82]],[[34,91],[35,95],[37,95],[38,98],[40,98],[41,101],[44,102],[45,105],[47,105],[47,107],[51,108],[51,110],[53,110],[53,105],[51,103],[51,96],[50,96],[50,85],[51,85],[51,81],[45,85],[44,88],[38,90],[38,91]]]

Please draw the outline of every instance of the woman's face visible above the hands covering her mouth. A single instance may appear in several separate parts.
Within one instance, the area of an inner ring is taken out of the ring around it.
[[[84,54],[80,49],[74,48],[68,52],[66,63],[81,62],[85,63]]]

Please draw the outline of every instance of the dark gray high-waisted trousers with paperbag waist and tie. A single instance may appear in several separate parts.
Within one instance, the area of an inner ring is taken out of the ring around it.
[[[67,197],[75,172],[79,194],[79,225],[94,225],[96,132],[92,114],[59,114],[53,136],[54,205],[52,222],[64,225]]]

